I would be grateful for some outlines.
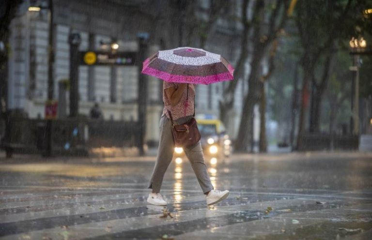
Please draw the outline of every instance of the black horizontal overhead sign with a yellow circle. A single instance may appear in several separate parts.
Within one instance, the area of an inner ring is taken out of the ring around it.
[[[137,52],[80,52],[80,65],[123,65],[134,66]]]

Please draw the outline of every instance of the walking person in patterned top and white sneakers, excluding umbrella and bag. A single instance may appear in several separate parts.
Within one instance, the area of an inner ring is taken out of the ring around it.
[[[160,194],[164,174],[173,158],[174,142],[171,132],[171,119],[175,125],[184,124],[194,117],[195,113],[195,86],[194,84],[173,83],[163,81],[163,102],[164,109],[160,118],[160,140],[156,157],[156,163],[150,179],[148,188],[152,192],[147,202],[154,205],[164,206],[167,202]],[[216,204],[227,198],[229,191],[215,190],[209,178],[207,167],[204,163],[202,145],[197,142],[194,145],[184,148],[196,178],[206,196],[207,205]]]

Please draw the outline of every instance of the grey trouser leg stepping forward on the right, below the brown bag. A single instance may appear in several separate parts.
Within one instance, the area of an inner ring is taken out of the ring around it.
[[[208,194],[209,191],[214,188],[211,180],[209,179],[207,166],[204,163],[202,144],[199,141],[196,145],[190,148],[185,148],[185,153],[191,163],[191,167],[195,172],[196,178],[199,181],[199,185],[201,186],[203,193]]]

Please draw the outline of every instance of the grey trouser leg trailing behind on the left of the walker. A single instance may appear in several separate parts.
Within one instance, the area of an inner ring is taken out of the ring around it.
[[[153,193],[160,192],[164,174],[173,158],[173,151],[174,143],[171,132],[171,121],[166,116],[163,116],[160,119],[160,141],[156,163],[148,186],[148,188],[153,190]]]

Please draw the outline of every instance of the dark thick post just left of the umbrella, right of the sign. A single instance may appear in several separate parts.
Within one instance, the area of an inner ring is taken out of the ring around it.
[[[137,141],[137,147],[141,156],[145,154],[143,146],[145,144],[145,133],[146,133],[146,110],[147,110],[147,76],[141,74],[142,61],[145,60],[148,48],[148,35],[139,34],[138,44],[139,50],[137,55],[137,65],[139,71],[138,79],[138,124],[139,124],[139,137]]]

